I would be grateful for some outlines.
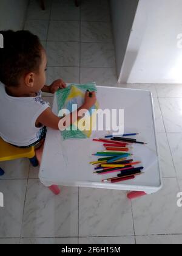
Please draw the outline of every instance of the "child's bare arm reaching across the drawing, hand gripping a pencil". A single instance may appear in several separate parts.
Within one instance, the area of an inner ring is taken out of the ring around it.
[[[85,109],[87,112],[87,110],[89,110],[95,104],[95,102],[96,102],[95,92],[92,92],[92,98],[89,97],[89,92],[87,92],[84,104],[77,110],[76,118],[77,119],[81,118],[78,116],[79,110]],[[46,110],[44,110],[44,112],[41,113],[41,115],[39,115],[38,119],[36,120],[36,123],[40,123],[43,126],[47,126],[52,129],[58,130],[59,129],[58,124],[59,124],[60,119],[61,118],[56,116],[50,108],[47,108]],[[76,120],[73,120],[73,123],[75,121]],[[70,124],[72,124],[72,113],[70,114]]]

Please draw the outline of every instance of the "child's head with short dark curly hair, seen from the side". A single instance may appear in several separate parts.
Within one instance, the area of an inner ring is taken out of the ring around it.
[[[47,58],[39,38],[29,31],[0,31],[0,81],[7,88],[37,93],[45,85]]]

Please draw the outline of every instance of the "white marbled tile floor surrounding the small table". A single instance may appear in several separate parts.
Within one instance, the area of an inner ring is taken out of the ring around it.
[[[94,2],[76,8],[72,0],[47,0],[42,12],[30,1],[25,28],[47,48],[48,84],[61,76],[117,85],[109,7]],[[120,86],[153,93],[163,189],[132,202],[125,191],[89,188],[62,187],[54,196],[27,160],[1,163],[0,243],[182,243],[182,85]]]

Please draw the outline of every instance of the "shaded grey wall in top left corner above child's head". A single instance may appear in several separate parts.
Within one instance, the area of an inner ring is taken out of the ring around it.
[[[0,0],[0,30],[19,30],[24,26],[28,0]]]

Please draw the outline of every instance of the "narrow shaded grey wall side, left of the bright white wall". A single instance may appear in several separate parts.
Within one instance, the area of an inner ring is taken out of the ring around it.
[[[110,0],[118,76],[120,76],[137,4],[138,0]]]

